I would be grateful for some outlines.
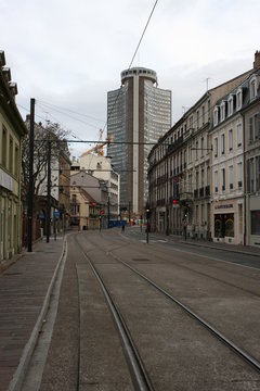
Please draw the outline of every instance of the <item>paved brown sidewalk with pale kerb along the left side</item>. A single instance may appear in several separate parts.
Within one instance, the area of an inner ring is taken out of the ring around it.
[[[0,275],[0,391],[21,386],[64,251],[63,237],[42,240]]]

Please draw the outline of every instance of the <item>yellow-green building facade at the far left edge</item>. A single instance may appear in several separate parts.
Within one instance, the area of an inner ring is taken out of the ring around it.
[[[21,143],[27,130],[15,104],[16,93],[0,51],[0,261],[22,248]]]

